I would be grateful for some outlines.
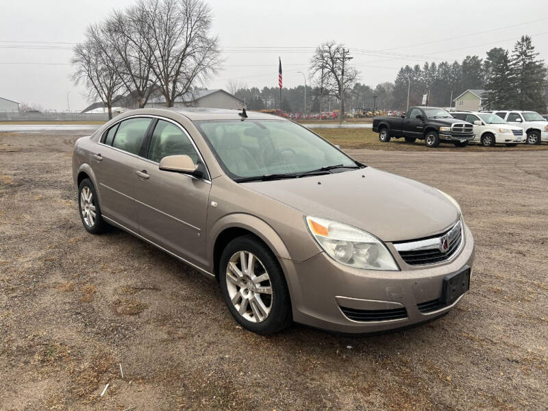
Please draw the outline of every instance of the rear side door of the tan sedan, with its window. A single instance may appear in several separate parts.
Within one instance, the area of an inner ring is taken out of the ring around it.
[[[91,163],[107,218],[138,232],[135,209],[135,167],[152,119],[136,117],[110,127],[92,153]]]

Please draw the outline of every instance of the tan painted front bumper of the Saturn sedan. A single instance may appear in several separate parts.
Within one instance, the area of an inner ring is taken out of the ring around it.
[[[436,318],[451,310],[450,306],[421,312],[417,304],[439,299],[443,277],[472,267],[474,240],[464,225],[464,243],[449,262],[430,266],[408,266],[397,251],[388,245],[401,271],[368,271],[338,264],[325,253],[304,262],[282,259],[288,279],[293,319],[298,323],[336,332],[365,333],[406,327]],[[354,321],[341,306],[355,310],[401,310],[406,317],[386,321]]]

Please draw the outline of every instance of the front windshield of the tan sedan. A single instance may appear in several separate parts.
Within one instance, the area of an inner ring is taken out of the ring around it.
[[[310,130],[285,120],[196,121],[225,172],[235,181],[302,177],[358,169],[361,164]]]

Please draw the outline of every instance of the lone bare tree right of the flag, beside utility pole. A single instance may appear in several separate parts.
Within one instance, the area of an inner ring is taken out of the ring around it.
[[[331,95],[339,101],[341,95],[344,97],[350,92],[358,80],[358,71],[350,67],[345,60],[347,57],[344,45],[336,44],[334,41],[320,45],[310,60],[310,77],[315,79],[316,84],[326,95]],[[344,103],[341,103],[340,108],[339,119],[342,121],[345,118]]]

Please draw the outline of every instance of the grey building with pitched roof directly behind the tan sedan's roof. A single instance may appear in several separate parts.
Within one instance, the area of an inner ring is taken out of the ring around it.
[[[166,106],[166,99],[160,95],[151,97],[145,105],[146,108],[163,108]],[[245,101],[229,92],[216,88],[213,90],[193,90],[175,99],[173,107],[202,107],[202,108],[228,108],[239,110],[245,108]]]

